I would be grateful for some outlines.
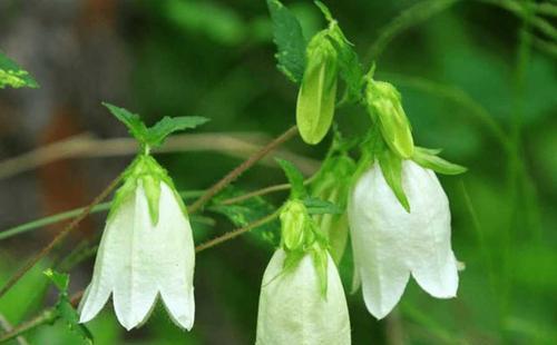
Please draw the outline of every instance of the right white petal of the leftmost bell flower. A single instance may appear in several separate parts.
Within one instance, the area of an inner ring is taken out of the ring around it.
[[[157,233],[160,296],[173,321],[192,329],[194,324],[195,246],[192,227],[176,197],[166,184],[160,188],[160,208]]]

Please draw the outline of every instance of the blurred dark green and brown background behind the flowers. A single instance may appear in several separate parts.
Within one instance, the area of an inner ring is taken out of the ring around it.
[[[306,37],[324,27],[311,1],[284,2]],[[535,14],[520,3],[535,7]],[[458,298],[436,300],[412,282],[394,313],[378,322],[360,293],[349,295],[353,344],[557,344],[555,2],[328,6],[365,67],[375,59],[377,77],[402,92],[416,141],[443,148],[443,157],[469,168],[462,176],[440,177],[451,201],[453,249],[466,264]],[[186,136],[158,156],[180,190],[207,188],[294,122],[297,89],[275,68],[263,0],[1,0],[0,49],[41,85],[0,90],[2,230],[86,205],[130,161],[134,147],[114,140],[126,130],[101,101],[139,112],[148,122],[165,115],[212,119],[196,130],[199,136]],[[369,125],[358,108],[343,108],[336,120],[345,135]],[[311,174],[326,141],[307,147],[296,138],[280,155]],[[284,180],[267,160],[236,186],[255,190]],[[285,196],[266,200],[280,205]],[[88,284],[94,257],[78,265],[65,257],[96,244],[104,217],[84,221],[0,299],[4,329],[55,303],[41,270],[66,267],[70,292]],[[234,228],[211,211],[194,226],[198,241]],[[1,239],[2,285],[61,227]],[[272,252],[271,241],[250,234],[201,253],[189,333],[175,327],[162,307],[130,333],[109,306],[88,326],[98,344],[253,344],[261,277]],[[350,263],[341,265],[341,274],[350,290]],[[61,322],[38,327],[26,339],[80,342]]]

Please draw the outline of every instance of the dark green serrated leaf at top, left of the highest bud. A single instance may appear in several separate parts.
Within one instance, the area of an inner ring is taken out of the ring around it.
[[[273,40],[278,49],[275,55],[278,69],[294,82],[300,82],[305,69],[306,41],[296,17],[278,0],[267,0],[273,21]]]

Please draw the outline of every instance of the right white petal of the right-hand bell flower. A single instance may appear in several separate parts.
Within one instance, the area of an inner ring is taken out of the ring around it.
[[[437,176],[413,161],[403,162],[403,184],[412,215],[420,219],[408,231],[408,264],[412,276],[438,298],[455,297],[458,267],[451,249],[449,200]]]

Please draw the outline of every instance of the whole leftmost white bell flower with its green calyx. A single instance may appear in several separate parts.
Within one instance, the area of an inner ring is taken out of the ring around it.
[[[160,296],[183,328],[194,323],[195,247],[185,206],[166,171],[147,155],[127,170],[117,191],[80,305],[94,318],[113,294],[120,324],[144,323]]]

